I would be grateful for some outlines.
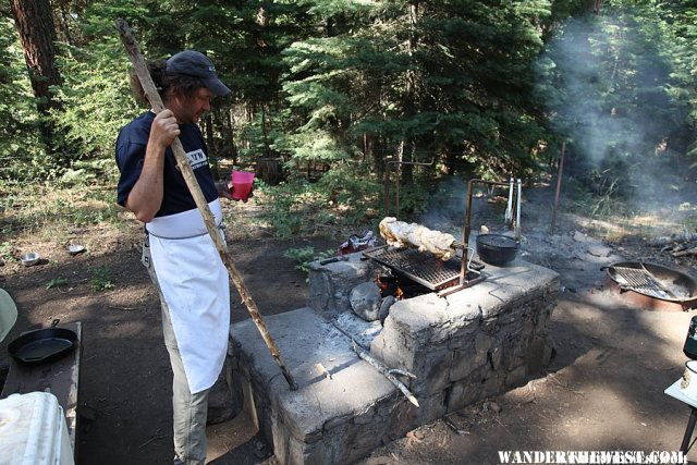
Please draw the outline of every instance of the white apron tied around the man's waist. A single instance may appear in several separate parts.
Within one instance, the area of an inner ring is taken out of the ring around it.
[[[209,204],[220,224],[220,200]],[[170,310],[176,345],[193,394],[213,386],[228,352],[228,269],[196,209],[146,225],[152,266]],[[222,232],[221,232],[222,234]]]

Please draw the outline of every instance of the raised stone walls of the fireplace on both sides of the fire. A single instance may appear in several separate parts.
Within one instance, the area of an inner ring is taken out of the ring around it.
[[[315,264],[308,304],[325,318],[351,311],[351,290],[380,270],[370,260]],[[421,423],[505,392],[549,365],[547,325],[559,276],[522,260],[487,266],[485,273],[485,281],[447,297],[396,302],[370,344],[388,367],[416,376],[407,386],[421,405]]]

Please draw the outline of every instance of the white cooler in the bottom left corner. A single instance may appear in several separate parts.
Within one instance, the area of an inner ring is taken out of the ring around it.
[[[0,400],[1,465],[74,465],[63,408],[48,392]]]

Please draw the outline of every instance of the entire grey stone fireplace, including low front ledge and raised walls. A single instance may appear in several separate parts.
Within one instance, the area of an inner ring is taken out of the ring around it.
[[[311,264],[307,307],[265,318],[297,391],[289,390],[250,321],[231,327],[233,381],[279,462],[354,462],[549,365],[555,272],[523,260],[487,266],[482,282],[445,297],[425,292],[396,301],[381,325],[353,311],[351,292],[389,271],[359,253],[347,257]],[[387,367],[413,374],[401,380],[419,407],[360,359],[352,341]]]

